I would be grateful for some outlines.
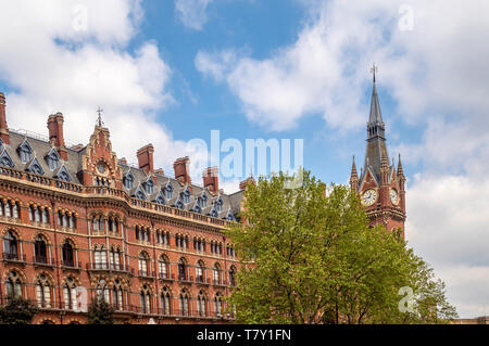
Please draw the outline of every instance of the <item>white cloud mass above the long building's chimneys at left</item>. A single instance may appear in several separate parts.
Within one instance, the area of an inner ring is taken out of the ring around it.
[[[126,49],[141,15],[131,0],[3,3],[0,72],[14,90],[7,95],[9,127],[47,133],[48,115],[60,111],[66,140],[87,143],[100,105],[118,157],[136,162],[151,142],[155,165],[168,172],[178,156],[200,159],[155,117],[173,102],[172,69],[158,47]]]

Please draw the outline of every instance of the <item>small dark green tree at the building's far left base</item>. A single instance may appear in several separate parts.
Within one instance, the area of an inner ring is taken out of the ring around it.
[[[7,305],[0,306],[0,323],[30,324],[38,309],[30,299],[11,295]]]

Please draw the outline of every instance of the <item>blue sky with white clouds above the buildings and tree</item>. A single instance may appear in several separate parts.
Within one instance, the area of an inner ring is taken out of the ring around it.
[[[60,0],[0,3],[11,128],[86,143],[101,106],[118,156],[205,161],[196,138],[303,139],[347,182],[363,159],[373,62],[389,154],[408,175],[406,238],[461,317],[489,315],[489,2]],[[241,176],[223,179],[227,192]],[[256,174],[256,171],[254,171]],[[195,180],[200,171],[192,170]]]

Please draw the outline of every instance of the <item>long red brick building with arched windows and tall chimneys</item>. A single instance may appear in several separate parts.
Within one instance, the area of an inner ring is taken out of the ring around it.
[[[65,144],[61,113],[48,130],[9,130],[0,93],[0,299],[32,298],[34,323],[84,323],[98,295],[118,323],[231,321],[238,261],[223,229],[242,190],[224,194],[215,168],[192,183],[188,157],[170,177],[151,144],[138,167],[117,159],[100,115],[85,146]]]

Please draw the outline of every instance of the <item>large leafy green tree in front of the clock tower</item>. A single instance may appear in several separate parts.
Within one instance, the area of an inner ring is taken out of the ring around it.
[[[396,233],[368,227],[356,193],[303,171],[244,193],[246,225],[228,233],[241,259],[229,303],[241,323],[421,323],[456,316],[432,270]],[[412,287],[408,311],[401,287]],[[435,313],[434,309],[437,309]],[[413,311],[413,312],[410,312]]]

